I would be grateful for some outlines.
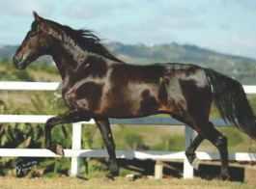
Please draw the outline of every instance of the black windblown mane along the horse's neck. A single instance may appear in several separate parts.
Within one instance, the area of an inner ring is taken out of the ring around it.
[[[74,30],[70,26],[62,25],[48,19],[44,20],[46,20],[46,22],[52,25],[54,28],[64,31],[64,33],[83,50],[99,54],[100,56],[113,61],[124,63],[124,61],[118,59],[116,56],[110,53],[103,44],[101,44],[100,38],[97,37],[93,31],[83,29]]]

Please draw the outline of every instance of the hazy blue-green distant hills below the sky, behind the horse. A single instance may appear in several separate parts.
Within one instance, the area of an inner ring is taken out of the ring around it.
[[[256,84],[255,59],[226,55],[196,45],[181,45],[176,42],[153,46],[110,42],[106,46],[114,54],[131,64],[190,63],[212,67],[239,79],[243,84]],[[10,60],[16,48],[12,45],[0,47],[0,59]],[[43,58],[41,61],[51,62],[48,58]]]

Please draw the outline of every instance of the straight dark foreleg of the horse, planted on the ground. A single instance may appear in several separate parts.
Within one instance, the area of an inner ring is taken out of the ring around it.
[[[110,176],[119,175],[119,167],[117,165],[115,152],[115,143],[113,140],[109,121],[108,119],[95,119],[95,121],[100,128],[102,139],[109,154],[109,170],[111,174]]]

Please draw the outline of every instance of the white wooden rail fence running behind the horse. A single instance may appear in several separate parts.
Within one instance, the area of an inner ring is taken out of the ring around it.
[[[57,82],[0,82],[0,90],[5,91],[55,91],[59,86]],[[256,94],[256,86],[243,86],[246,94]],[[35,115],[0,115],[0,122],[31,122],[45,123],[52,116]],[[81,126],[83,123],[94,123],[94,121],[72,123],[72,147],[64,149],[65,157],[71,157],[71,175],[79,174],[78,160],[80,157],[107,157],[104,149],[81,149]],[[136,122],[133,121],[135,124]],[[147,123],[147,122],[145,122]],[[150,122],[148,122],[150,123]],[[160,124],[161,122],[159,122]],[[141,122],[139,122],[141,124]],[[156,124],[156,123],[155,123]],[[177,125],[177,123],[175,122]],[[157,128],[156,128],[157,129]],[[194,137],[194,132],[185,126],[185,148],[188,147]],[[0,139],[1,140],[1,139]],[[196,152],[200,160],[218,159],[217,154],[208,152]],[[0,148],[2,157],[59,157],[48,149],[28,149],[28,148]],[[185,157],[185,151],[128,151],[117,150],[118,158],[126,159],[153,159],[156,160],[156,178],[162,175],[162,161],[183,160],[184,177],[193,177],[193,167],[188,163]],[[230,160],[236,161],[256,161],[256,153],[237,152],[230,154]]]

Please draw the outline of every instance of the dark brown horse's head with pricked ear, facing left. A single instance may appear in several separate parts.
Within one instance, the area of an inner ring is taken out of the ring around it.
[[[31,25],[31,30],[14,54],[14,65],[19,69],[27,67],[40,56],[48,54],[51,45],[50,36],[43,32],[46,26],[43,17],[35,12],[33,14],[35,20]]]

